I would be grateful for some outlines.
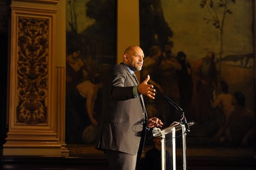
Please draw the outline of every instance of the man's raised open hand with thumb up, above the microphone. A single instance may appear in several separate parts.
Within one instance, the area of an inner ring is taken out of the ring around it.
[[[138,91],[140,94],[148,96],[148,98],[155,99],[156,90],[153,85],[148,84],[148,80],[150,80],[150,75],[147,75],[147,78],[138,85]]]

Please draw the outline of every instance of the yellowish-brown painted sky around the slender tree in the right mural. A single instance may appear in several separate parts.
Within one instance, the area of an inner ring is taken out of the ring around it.
[[[220,31],[203,20],[203,17],[211,19],[212,15],[200,7],[200,0],[162,0],[162,5],[166,22],[174,32],[174,53],[184,51],[193,59],[205,56],[207,51],[219,53]],[[229,4],[233,14],[226,15],[224,22],[224,56],[253,53],[252,7],[251,0]],[[216,8],[216,12],[222,18],[223,12],[219,9]]]

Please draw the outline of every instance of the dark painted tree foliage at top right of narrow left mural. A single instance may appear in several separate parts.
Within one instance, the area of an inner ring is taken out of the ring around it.
[[[97,53],[113,56],[116,51],[116,4],[115,0],[89,0],[86,4],[86,16],[95,22],[88,26],[83,36],[98,46]]]

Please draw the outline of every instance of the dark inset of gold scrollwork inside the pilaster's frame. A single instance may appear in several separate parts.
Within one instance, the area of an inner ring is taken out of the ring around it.
[[[49,19],[18,18],[16,124],[46,124]]]

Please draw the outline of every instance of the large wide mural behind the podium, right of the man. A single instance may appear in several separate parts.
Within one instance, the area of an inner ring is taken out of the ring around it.
[[[166,126],[181,113],[194,121],[193,145],[254,145],[253,2],[140,0],[142,80],[157,88],[149,116]]]

